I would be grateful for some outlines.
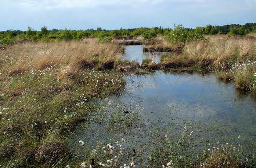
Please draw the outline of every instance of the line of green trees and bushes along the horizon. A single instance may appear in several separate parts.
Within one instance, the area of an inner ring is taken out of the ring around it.
[[[181,25],[182,26],[182,25]],[[179,27],[179,26],[178,26]],[[182,26],[183,27],[183,26]],[[63,40],[82,40],[85,37],[97,37],[102,41],[109,41],[113,37],[129,37],[129,36],[143,36],[145,40],[156,37],[158,34],[164,36],[170,34],[172,31],[177,29],[174,25],[174,29],[163,28],[163,27],[141,27],[134,29],[123,29],[119,30],[105,30],[100,27],[97,29],[87,29],[87,30],[58,30],[52,29],[48,30],[46,26],[43,26],[40,30],[34,30],[28,27],[26,31],[21,30],[7,30],[0,31],[0,44],[12,43],[18,39],[27,40],[40,40],[45,42],[50,42],[53,39],[57,41]],[[224,26],[212,26],[206,25],[205,27],[196,27],[195,29],[188,29],[183,27],[183,32],[198,32],[203,34],[221,34],[225,33],[228,36],[243,36],[248,33],[256,33],[256,23],[246,23],[245,25],[224,25]]]

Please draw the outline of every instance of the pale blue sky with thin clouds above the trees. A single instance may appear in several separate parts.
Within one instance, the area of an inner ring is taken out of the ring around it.
[[[256,0],[0,0],[0,31],[256,22]]]

